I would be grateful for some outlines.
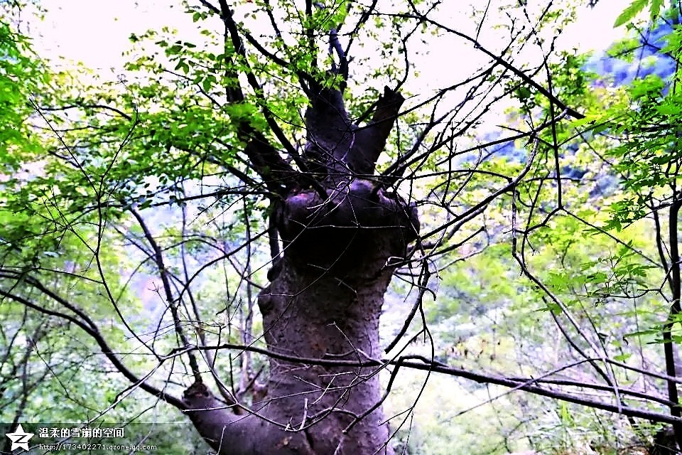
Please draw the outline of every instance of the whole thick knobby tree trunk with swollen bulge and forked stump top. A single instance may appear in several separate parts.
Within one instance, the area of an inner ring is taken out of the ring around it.
[[[416,209],[372,178],[402,97],[388,88],[372,122],[351,124],[340,92],[305,115],[315,188],[291,186],[274,216],[284,253],[259,295],[269,350],[301,358],[380,358],[379,315],[395,261],[416,238]],[[202,383],[187,414],[220,454],[392,454],[376,368],[270,360],[267,395],[237,415]],[[364,415],[367,414],[367,415]],[[349,431],[345,431],[356,417]]]

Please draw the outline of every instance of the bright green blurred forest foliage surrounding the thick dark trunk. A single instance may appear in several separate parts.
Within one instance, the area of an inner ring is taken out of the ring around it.
[[[599,25],[622,38],[592,54],[562,40],[596,0],[328,0],[317,59],[306,3],[225,3],[246,49],[226,75],[204,1],[173,4],[183,28],[129,28],[114,73],[37,51],[49,4],[0,2],[0,421],[125,424],[205,454],[159,391],[198,368],[257,402],[280,253],[230,125],[288,138],[305,170],[296,78],[332,65],[332,23],[350,117],[384,86],[405,98],[377,162],[421,224],[381,311],[392,450],[680,453],[678,1],[623,4]]]

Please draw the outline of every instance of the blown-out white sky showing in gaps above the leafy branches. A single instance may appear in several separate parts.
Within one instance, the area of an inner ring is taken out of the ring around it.
[[[448,1],[453,4],[460,2]],[[121,54],[129,48],[130,33],[161,26],[178,28],[183,34],[196,32],[195,26],[183,14],[179,1],[41,0],[40,3],[48,14],[45,23],[38,23],[31,30],[39,53],[50,58],[63,55],[68,60],[80,61],[88,68],[104,72],[109,72],[110,68],[114,73],[121,72],[124,62]],[[622,29],[614,30],[610,24],[614,23],[626,4],[622,0],[600,0],[594,9],[584,8],[578,23],[565,31],[563,45],[567,48],[577,46],[581,50],[603,50],[622,33]],[[458,3],[460,8],[461,5]],[[434,69],[441,67],[443,60],[440,54],[445,51],[448,55],[460,56],[460,62],[475,67],[480,64],[476,62],[477,53],[468,43],[448,43],[447,48],[443,47],[443,43],[441,46],[438,44],[428,43],[429,53],[419,64],[422,73],[432,73],[429,66]],[[467,68],[472,68],[452,66],[463,76],[470,74]]]

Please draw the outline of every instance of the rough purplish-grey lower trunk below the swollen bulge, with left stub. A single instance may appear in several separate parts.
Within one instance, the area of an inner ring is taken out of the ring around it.
[[[379,314],[393,272],[385,265],[399,242],[385,233],[356,231],[327,243],[328,249],[321,248],[327,253],[345,253],[332,264],[319,262],[319,244],[310,245],[310,255],[285,253],[280,274],[261,292],[269,349],[306,358],[378,358]],[[343,432],[379,402],[377,373],[271,360],[268,395],[252,407],[259,416],[220,409],[224,405],[197,385],[185,392],[185,402],[204,410],[188,414],[221,454],[391,454],[381,408]]]

